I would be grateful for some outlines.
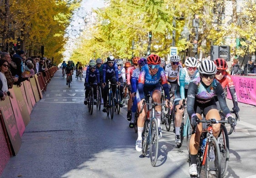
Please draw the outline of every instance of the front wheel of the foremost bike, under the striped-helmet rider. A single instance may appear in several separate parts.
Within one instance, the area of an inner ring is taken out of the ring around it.
[[[215,137],[211,137],[210,142],[208,143],[207,158],[205,162],[206,178],[221,178],[219,144]]]

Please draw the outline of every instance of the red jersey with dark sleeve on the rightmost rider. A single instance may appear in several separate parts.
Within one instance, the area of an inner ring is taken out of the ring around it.
[[[218,79],[216,79],[216,80],[218,80]],[[223,78],[218,81],[220,82],[223,89],[228,87],[228,89],[230,91],[230,95],[232,97],[233,105],[237,107],[238,103],[237,103],[235,85],[234,85],[234,82],[232,81],[230,74],[226,72],[226,74],[223,76]]]

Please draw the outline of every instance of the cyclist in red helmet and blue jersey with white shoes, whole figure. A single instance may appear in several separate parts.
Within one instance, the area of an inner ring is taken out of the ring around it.
[[[160,67],[161,59],[158,55],[151,54],[147,58],[148,67],[144,66],[139,74],[138,79],[138,90],[136,93],[136,98],[138,102],[138,110],[141,110],[143,100],[147,94],[150,94],[154,102],[161,103],[161,85],[159,80],[161,79],[164,88],[166,106],[169,107],[168,102],[170,99],[169,88],[167,84],[167,78],[164,74],[164,69]],[[141,152],[142,150],[142,132],[143,125],[146,116],[146,106],[143,107],[143,112],[138,117],[138,138],[136,141],[136,150]],[[160,126],[161,117],[161,106],[156,106],[155,116],[158,120],[158,127]],[[161,127],[159,127],[159,137],[162,135]]]

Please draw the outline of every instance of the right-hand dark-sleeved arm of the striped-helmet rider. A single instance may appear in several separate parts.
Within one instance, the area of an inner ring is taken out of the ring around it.
[[[230,109],[227,106],[226,99],[225,99],[225,93],[220,83],[215,88],[215,94],[218,97],[218,101],[220,103],[220,108],[222,112],[225,114],[226,117],[231,116]],[[189,94],[188,94],[189,95]]]

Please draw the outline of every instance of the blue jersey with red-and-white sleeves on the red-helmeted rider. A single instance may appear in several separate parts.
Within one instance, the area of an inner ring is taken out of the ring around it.
[[[169,100],[170,99],[169,87],[167,84],[167,78],[165,76],[164,69],[162,67],[160,67],[159,70],[157,71],[157,73],[152,76],[149,73],[148,66],[144,66],[141,68],[141,72],[139,74],[139,79],[138,79],[138,92],[137,92],[137,94],[140,97],[140,100],[145,98],[143,88],[147,89],[147,87],[148,87],[148,88],[150,88],[150,90],[151,89],[154,90],[154,88],[159,87],[159,90],[160,90],[160,88],[161,88],[161,86],[159,84],[160,79],[162,81],[162,86],[164,88],[164,93],[166,95],[165,98]]]

